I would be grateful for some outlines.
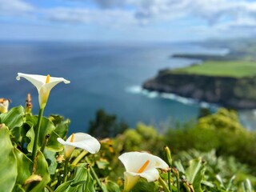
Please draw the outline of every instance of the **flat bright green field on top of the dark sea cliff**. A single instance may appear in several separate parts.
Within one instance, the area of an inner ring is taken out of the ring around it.
[[[187,66],[170,73],[201,74],[222,77],[252,77],[256,75],[256,63],[246,61],[206,61],[202,64]]]

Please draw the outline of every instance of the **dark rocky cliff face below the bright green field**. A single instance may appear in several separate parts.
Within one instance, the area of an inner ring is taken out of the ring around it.
[[[178,94],[199,101],[213,102],[235,109],[256,108],[256,78],[216,77],[197,74],[159,72],[143,83],[146,90]]]

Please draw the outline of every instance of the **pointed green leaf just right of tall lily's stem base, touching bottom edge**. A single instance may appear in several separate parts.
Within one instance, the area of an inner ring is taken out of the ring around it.
[[[35,159],[36,163],[34,165],[34,174],[38,174],[42,177],[42,181],[38,183],[30,192],[40,192],[44,191],[45,186],[50,182],[50,174],[48,170],[48,164],[46,158],[43,156],[42,152],[38,150],[38,155]]]

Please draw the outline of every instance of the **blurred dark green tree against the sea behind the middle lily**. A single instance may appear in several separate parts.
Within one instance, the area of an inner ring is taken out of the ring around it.
[[[113,138],[128,128],[126,122],[117,122],[113,114],[106,114],[104,110],[96,112],[95,120],[90,121],[89,134],[97,138]]]

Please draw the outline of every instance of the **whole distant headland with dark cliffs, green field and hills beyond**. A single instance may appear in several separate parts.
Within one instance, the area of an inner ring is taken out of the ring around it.
[[[203,46],[210,44],[206,42]],[[160,70],[142,87],[228,108],[256,109],[256,40],[212,42],[214,47],[224,47],[224,44],[230,50],[225,55],[172,55],[176,58],[198,58],[202,64]]]

